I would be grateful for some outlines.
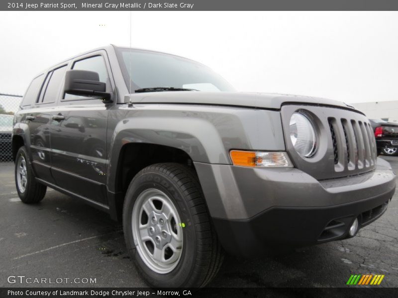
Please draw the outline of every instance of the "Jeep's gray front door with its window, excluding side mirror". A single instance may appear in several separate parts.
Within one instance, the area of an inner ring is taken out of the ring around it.
[[[97,72],[114,90],[103,50],[81,56],[71,69]],[[58,186],[95,203],[106,199],[106,125],[108,109],[100,99],[61,94],[51,127],[52,174]]]

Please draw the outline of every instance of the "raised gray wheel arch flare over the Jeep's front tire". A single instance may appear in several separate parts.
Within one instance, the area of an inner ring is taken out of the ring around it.
[[[178,119],[176,123],[163,117],[130,118],[120,121],[110,144],[108,177],[115,177],[121,148],[129,143],[146,143],[185,151],[192,160],[204,163],[229,164],[228,152],[217,130],[202,119]],[[109,189],[112,189],[109,180]]]

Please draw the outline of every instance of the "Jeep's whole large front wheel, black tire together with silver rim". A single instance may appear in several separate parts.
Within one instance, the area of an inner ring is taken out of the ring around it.
[[[222,248],[192,170],[159,163],[131,181],[123,207],[127,249],[152,287],[202,287],[218,272]]]

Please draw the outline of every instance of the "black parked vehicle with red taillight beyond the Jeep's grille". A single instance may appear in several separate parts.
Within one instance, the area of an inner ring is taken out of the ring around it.
[[[398,124],[382,119],[369,119],[375,133],[378,155],[394,156],[398,153]]]

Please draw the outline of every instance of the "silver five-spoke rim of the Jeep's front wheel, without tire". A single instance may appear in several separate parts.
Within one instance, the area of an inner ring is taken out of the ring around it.
[[[173,201],[158,189],[144,190],[134,204],[131,223],[134,244],[145,265],[160,274],[176,268],[183,230]]]

